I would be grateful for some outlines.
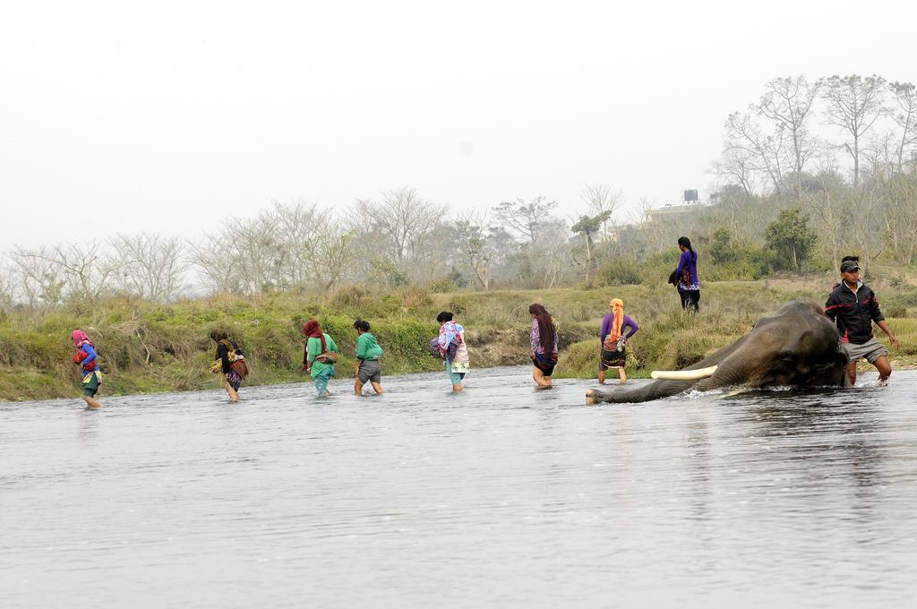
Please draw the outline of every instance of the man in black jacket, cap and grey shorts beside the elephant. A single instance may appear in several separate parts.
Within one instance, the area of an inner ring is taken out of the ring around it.
[[[856,361],[861,358],[876,367],[878,383],[884,385],[891,375],[889,349],[886,349],[872,333],[872,323],[889,335],[891,344],[900,348],[898,338],[891,333],[888,322],[878,308],[876,294],[859,278],[859,263],[845,260],[841,263],[841,283],[828,296],[824,314],[829,316],[841,333],[841,343],[850,362],[847,364],[847,378],[856,383]]]

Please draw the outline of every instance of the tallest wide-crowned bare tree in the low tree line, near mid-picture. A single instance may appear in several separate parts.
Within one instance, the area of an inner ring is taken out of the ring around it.
[[[445,214],[441,205],[432,205],[417,195],[413,188],[403,186],[382,193],[381,202],[357,200],[360,216],[370,221],[370,229],[378,230],[387,241],[392,259],[402,271],[414,256],[417,242],[436,227]]]

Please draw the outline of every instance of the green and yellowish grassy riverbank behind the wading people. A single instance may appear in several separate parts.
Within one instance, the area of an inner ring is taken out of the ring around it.
[[[541,302],[558,319],[561,358],[558,377],[595,374],[597,337],[611,297],[624,300],[640,332],[631,342],[628,374],[648,376],[654,369],[679,368],[699,360],[745,334],[759,316],[793,298],[823,303],[831,275],[759,282],[705,282],[702,311],[685,315],[668,285],[610,288],[558,288],[522,292],[427,293],[409,288],[374,294],[344,288],[326,302],[306,296],[271,294],[256,298],[217,296],[173,304],[129,298],[72,304],[37,314],[0,314],[0,399],[74,397],[78,383],[70,363],[70,333],[81,327],[96,343],[105,383],[101,396],[125,393],[188,391],[218,386],[207,368],[215,327],[226,328],[246,353],[252,374],[246,384],[299,382],[303,358],[300,328],[315,316],[342,351],[337,377],[352,375],[356,332],[353,320],[370,321],[385,349],[383,374],[436,371],[440,364],[426,352],[436,333],[436,313],[456,313],[467,328],[473,368],[528,363],[528,304]],[[894,275],[871,278],[902,349],[892,351],[893,365],[917,363],[917,281]],[[885,340],[881,332],[880,340]]]

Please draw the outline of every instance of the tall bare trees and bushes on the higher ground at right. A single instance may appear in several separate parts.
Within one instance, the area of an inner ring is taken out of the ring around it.
[[[796,210],[812,231],[790,268],[856,253],[909,266],[917,254],[917,87],[877,74],[774,78],[756,102],[727,116],[713,163],[716,205],[699,236],[728,231],[761,242]],[[773,237],[773,235],[771,235]]]

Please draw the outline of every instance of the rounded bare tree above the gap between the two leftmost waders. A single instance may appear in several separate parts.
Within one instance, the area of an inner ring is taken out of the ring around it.
[[[182,239],[139,233],[116,235],[109,243],[118,287],[162,302],[178,295],[188,270]]]

